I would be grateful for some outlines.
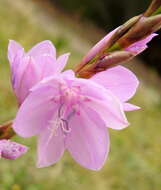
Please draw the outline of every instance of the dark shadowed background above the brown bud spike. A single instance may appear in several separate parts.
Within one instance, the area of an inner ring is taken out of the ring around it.
[[[60,8],[79,15],[81,19],[89,19],[99,27],[107,31],[123,24],[134,15],[141,14],[147,8],[151,0],[49,0]]]

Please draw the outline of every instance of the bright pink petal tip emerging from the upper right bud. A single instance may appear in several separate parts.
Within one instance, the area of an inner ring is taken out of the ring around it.
[[[147,43],[150,42],[157,35],[158,34],[153,33],[153,34],[149,35],[147,38],[145,38],[144,40],[140,40],[140,41],[132,44],[131,46],[126,48],[126,50],[133,52],[133,53],[136,53],[136,54],[139,54],[139,53],[143,52],[148,47]]]

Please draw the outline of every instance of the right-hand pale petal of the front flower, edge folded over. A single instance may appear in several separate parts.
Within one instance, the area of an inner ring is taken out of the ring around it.
[[[123,129],[128,126],[122,103],[111,91],[92,80],[77,79],[72,84],[80,86],[85,104],[98,113],[107,127]]]

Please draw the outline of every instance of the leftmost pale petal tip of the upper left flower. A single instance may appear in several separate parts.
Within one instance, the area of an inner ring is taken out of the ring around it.
[[[21,56],[24,54],[23,47],[16,41],[10,40],[8,44],[8,60],[10,62],[10,65],[13,64],[14,59],[18,54]]]

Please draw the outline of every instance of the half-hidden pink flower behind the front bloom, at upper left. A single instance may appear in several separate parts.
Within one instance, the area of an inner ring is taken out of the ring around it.
[[[8,59],[11,66],[12,86],[21,104],[30,88],[43,78],[60,73],[66,65],[69,54],[56,59],[56,50],[50,41],[43,41],[25,53],[20,44],[11,40]]]

